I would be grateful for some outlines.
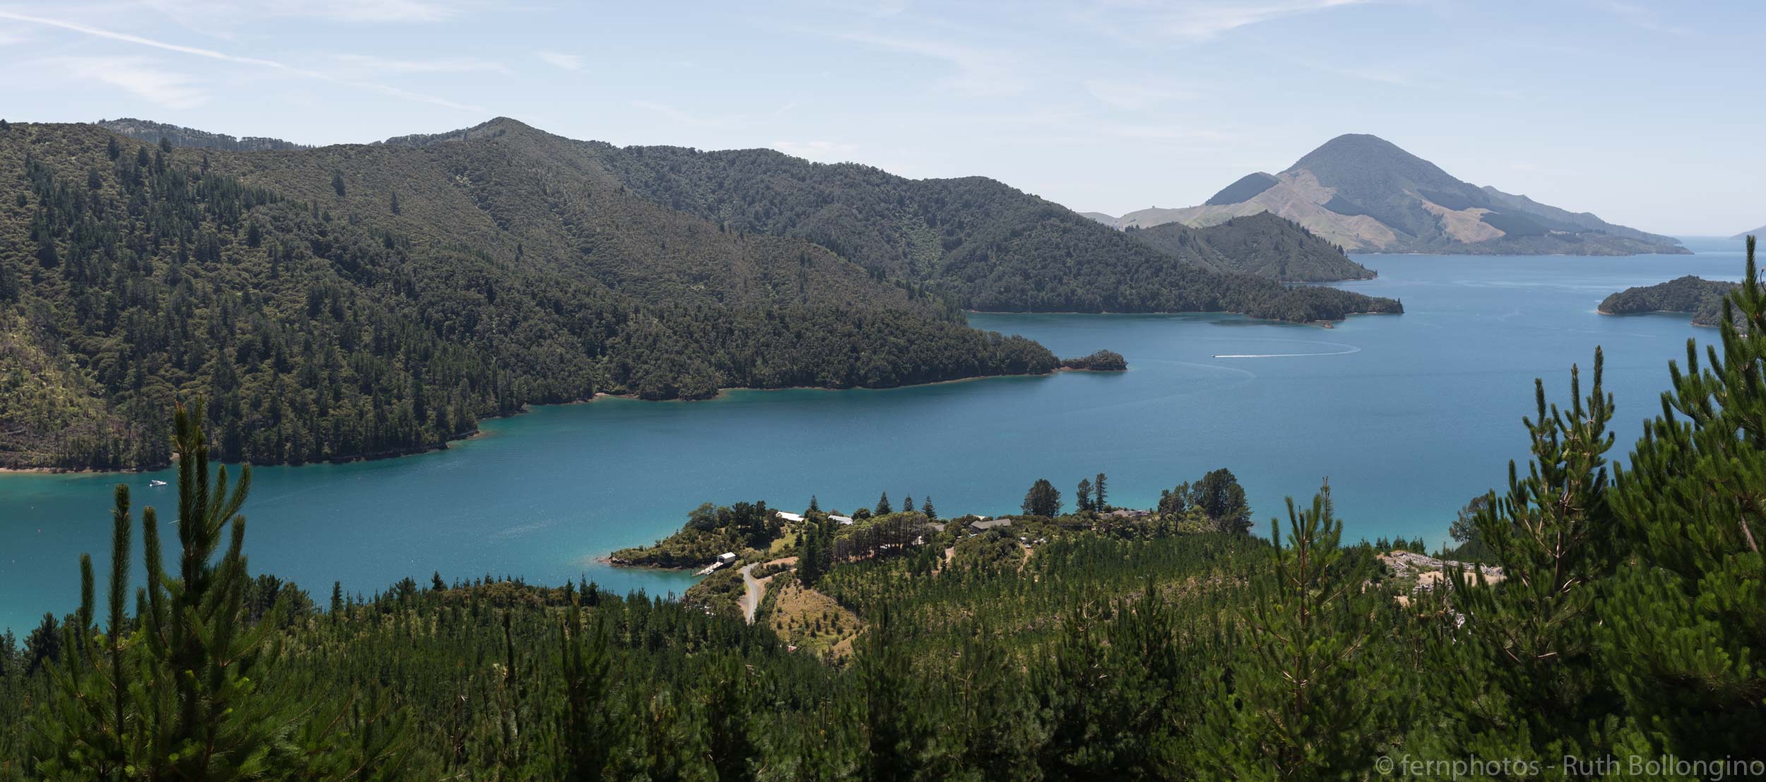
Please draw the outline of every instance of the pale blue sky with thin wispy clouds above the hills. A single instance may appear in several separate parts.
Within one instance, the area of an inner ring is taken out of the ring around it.
[[[1189,207],[1370,132],[1671,235],[1766,222],[1766,4],[0,0],[0,117],[366,143],[512,117],[616,145]]]

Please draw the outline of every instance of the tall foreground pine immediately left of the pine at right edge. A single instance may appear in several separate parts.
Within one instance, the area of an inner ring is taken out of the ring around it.
[[[1547,406],[1545,383],[1535,381],[1536,415],[1522,418],[1533,441],[1528,475],[1510,462],[1506,496],[1492,493],[1475,519],[1503,581],[1448,572],[1453,611],[1443,616],[1457,625],[1462,613],[1464,627],[1436,644],[1443,658],[1430,665],[1455,713],[1443,757],[1586,756],[1602,748],[1596,720],[1621,710],[1593,644],[1595,593],[1618,563],[1605,459],[1612,397],[1602,371],[1596,350],[1582,397],[1581,372],[1570,369],[1570,410]]]

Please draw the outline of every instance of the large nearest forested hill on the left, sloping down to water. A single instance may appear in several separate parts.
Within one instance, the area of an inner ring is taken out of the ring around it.
[[[800,238],[627,194],[519,124],[472,143],[224,152],[0,124],[0,466],[431,448],[597,392],[1047,372],[1037,342]]]

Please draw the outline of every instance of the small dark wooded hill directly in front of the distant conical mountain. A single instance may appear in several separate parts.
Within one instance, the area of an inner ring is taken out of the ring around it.
[[[1130,226],[1127,233],[1157,251],[1215,270],[1294,282],[1374,277],[1367,267],[1349,259],[1342,247],[1270,212],[1233,217],[1208,228],[1166,222],[1153,228]]]

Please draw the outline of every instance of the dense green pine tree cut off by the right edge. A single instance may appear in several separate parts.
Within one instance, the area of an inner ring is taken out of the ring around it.
[[[1595,614],[1649,754],[1727,757],[1766,736],[1766,288],[1747,274],[1718,344],[1687,341],[1612,505],[1628,558]]]

